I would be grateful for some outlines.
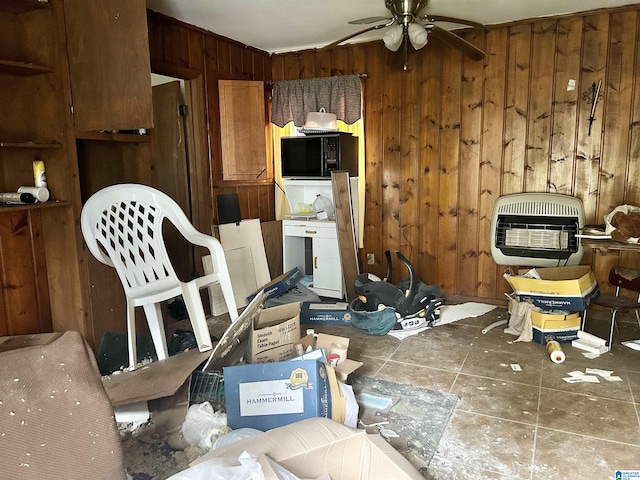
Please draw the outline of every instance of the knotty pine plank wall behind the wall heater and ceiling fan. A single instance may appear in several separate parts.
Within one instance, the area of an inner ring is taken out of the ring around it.
[[[573,195],[592,224],[640,205],[639,17],[636,5],[465,34],[484,62],[434,40],[410,54],[407,71],[382,42],[275,55],[273,79],[368,74],[371,271],[384,274],[383,252],[395,248],[445,293],[502,299],[511,289],[490,253],[499,196]],[[583,94],[600,81],[589,134]],[[640,254],[587,250],[583,263],[607,290],[609,268],[638,268]]]

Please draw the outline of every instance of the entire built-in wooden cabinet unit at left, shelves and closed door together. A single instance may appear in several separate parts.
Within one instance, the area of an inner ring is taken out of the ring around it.
[[[51,193],[0,204],[0,335],[73,329],[96,348],[124,330],[124,294],[80,214],[104,186],[154,182],[152,135],[114,132],[153,127],[145,3],[0,0],[0,31],[0,192],[33,185],[42,160]]]

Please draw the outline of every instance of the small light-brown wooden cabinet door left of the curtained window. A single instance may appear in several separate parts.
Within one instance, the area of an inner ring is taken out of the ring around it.
[[[218,86],[222,179],[251,181],[270,178],[263,82],[220,80]]]

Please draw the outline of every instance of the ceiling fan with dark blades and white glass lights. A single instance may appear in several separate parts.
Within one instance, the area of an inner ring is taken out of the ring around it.
[[[486,54],[482,50],[455,33],[439,27],[435,22],[457,23],[481,29],[485,28],[484,25],[460,18],[429,15],[422,11],[425,9],[427,3],[428,0],[385,0],[385,7],[391,12],[391,17],[367,17],[352,20],[349,22],[351,25],[369,25],[373,23],[376,25],[336,40],[323,47],[323,49],[335,47],[363,33],[388,27],[388,30],[382,37],[382,41],[385,46],[393,52],[403,46],[404,70],[407,69],[409,44],[411,44],[415,50],[419,50],[427,44],[430,36],[441,40],[453,48],[457,48],[471,60],[478,61],[484,59]]]

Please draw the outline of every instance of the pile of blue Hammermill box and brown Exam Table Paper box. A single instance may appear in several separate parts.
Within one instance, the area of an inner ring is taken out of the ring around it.
[[[269,430],[311,417],[343,423],[346,399],[338,381],[362,365],[346,358],[349,339],[301,338],[300,304],[262,308],[265,295],[259,295],[235,322],[248,324],[249,363],[223,368],[227,424]],[[331,365],[327,355],[333,345],[343,346],[344,358]]]

